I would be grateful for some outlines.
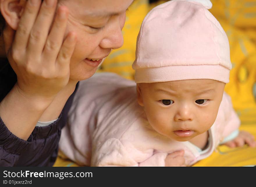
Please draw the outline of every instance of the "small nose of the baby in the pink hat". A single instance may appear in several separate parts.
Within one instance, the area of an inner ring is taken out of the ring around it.
[[[193,120],[193,109],[188,105],[183,105],[178,108],[174,115],[175,121],[192,121]]]

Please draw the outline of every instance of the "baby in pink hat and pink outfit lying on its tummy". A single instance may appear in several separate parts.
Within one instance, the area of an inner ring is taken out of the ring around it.
[[[90,166],[165,166],[168,154],[184,150],[191,166],[220,143],[256,145],[239,132],[224,92],[229,42],[211,6],[173,0],[148,13],[132,65],[137,84],[111,73],[80,81],[60,141],[68,158]]]

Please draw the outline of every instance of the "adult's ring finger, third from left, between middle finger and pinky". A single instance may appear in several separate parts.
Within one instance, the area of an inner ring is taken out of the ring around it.
[[[45,62],[53,62],[55,65],[56,58],[63,44],[63,38],[67,26],[68,10],[65,7],[59,7],[56,18],[52,25],[50,34],[46,40],[43,56]]]

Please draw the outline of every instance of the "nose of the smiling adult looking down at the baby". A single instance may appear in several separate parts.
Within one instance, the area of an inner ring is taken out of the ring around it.
[[[107,49],[118,49],[124,44],[122,35],[122,25],[119,19],[115,19],[105,30],[105,37],[100,42],[99,46]]]

